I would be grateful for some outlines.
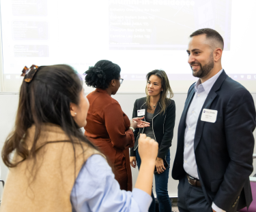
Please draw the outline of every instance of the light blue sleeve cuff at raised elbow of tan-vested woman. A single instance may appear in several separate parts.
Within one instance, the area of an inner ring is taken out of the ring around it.
[[[132,190],[132,197],[137,202],[140,211],[148,211],[152,202],[152,196],[138,188]]]

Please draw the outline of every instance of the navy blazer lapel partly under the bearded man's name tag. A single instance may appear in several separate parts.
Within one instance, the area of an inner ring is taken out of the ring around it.
[[[203,103],[203,107],[200,111],[199,118],[197,120],[197,128],[195,130],[195,139],[194,139],[194,151],[197,149],[197,145],[199,144],[199,141],[201,139],[201,135],[203,133],[203,126],[205,122],[201,121],[202,111],[203,109],[210,109],[212,102],[216,98],[217,94],[216,91],[221,88],[221,85],[223,84],[224,80],[227,78],[227,74],[223,70],[223,73],[218,77],[214,85],[212,86],[212,89],[210,90],[207,98],[205,99],[205,102]]]

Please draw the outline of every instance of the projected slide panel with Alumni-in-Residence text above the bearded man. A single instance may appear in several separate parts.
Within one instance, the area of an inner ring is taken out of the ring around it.
[[[231,1],[110,1],[109,48],[186,50],[192,31],[212,28],[229,50],[230,22]]]

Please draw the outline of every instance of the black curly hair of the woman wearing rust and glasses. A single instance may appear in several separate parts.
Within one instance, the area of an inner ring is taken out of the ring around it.
[[[85,71],[85,84],[94,88],[106,89],[112,79],[119,79],[121,68],[109,60],[100,60]]]

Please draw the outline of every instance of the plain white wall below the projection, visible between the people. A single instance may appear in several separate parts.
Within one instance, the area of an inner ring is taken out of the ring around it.
[[[253,95],[253,99],[256,103],[256,92],[251,92]],[[3,143],[11,132],[14,121],[16,117],[16,110],[18,106],[18,93],[1,93],[0,92],[0,149],[3,147]],[[133,104],[136,99],[145,96],[143,92],[119,92],[113,98],[115,98],[121,105],[123,111],[129,118],[132,118],[132,109]],[[171,164],[173,166],[173,160],[175,157],[175,151],[177,147],[177,126],[180,122],[180,117],[182,115],[184,103],[186,100],[186,92],[175,92],[173,100],[176,104],[176,120],[175,120],[175,128],[174,128],[174,136],[173,136],[173,143],[171,146]],[[254,132],[256,137],[256,130]],[[256,153],[256,150],[254,151]],[[8,168],[3,164],[2,160],[0,161],[1,166],[1,179],[5,180]],[[255,169],[256,169],[256,162],[255,162]],[[253,174],[255,171],[253,171]],[[133,185],[137,179],[138,171],[137,169],[132,168],[132,179]],[[177,196],[177,181],[171,178],[171,169],[169,175],[169,196]]]

